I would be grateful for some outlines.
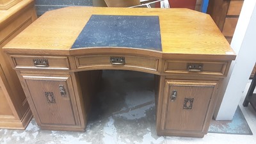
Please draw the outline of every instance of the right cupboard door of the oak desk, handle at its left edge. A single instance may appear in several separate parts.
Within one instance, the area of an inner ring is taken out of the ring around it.
[[[216,83],[166,80],[164,130],[203,131]]]

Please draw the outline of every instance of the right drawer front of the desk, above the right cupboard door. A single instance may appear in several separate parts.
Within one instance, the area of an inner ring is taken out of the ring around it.
[[[218,61],[165,61],[164,72],[177,74],[209,74],[224,76],[227,62]],[[191,67],[190,67],[191,66]]]

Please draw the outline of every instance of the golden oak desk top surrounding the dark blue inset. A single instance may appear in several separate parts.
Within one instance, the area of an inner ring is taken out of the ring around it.
[[[210,15],[188,9],[68,7],[39,17],[20,35],[4,46],[8,53],[70,54],[71,47],[91,15],[157,15],[162,52],[217,56],[234,60],[236,54]]]

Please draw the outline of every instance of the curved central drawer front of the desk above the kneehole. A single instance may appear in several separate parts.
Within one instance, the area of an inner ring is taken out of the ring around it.
[[[111,63],[111,58],[124,58],[124,63]],[[93,68],[93,67],[131,67],[142,68],[145,70],[157,71],[158,59],[149,58],[145,56],[131,56],[131,55],[90,55],[90,56],[76,56],[77,68]]]

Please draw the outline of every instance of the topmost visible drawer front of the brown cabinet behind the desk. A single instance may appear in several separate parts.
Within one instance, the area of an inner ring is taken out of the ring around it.
[[[230,1],[227,15],[240,15],[244,1]]]

